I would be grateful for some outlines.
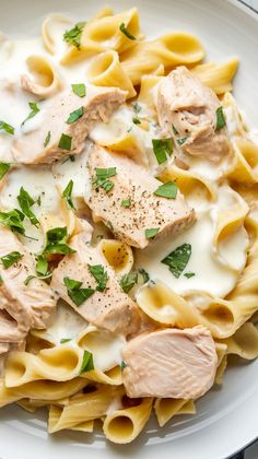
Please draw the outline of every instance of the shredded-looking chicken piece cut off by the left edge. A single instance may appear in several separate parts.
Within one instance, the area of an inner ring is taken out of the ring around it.
[[[37,278],[24,284],[28,275],[35,275],[34,260],[17,237],[0,226],[0,258],[12,251],[22,258],[7,269],[0,264],[0,309],[5,309],[24,332],[31,327],[45,328],[56,307],[54,292]]]

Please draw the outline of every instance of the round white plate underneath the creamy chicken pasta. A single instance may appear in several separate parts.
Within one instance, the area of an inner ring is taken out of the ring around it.
[[[1,0],[0,28],[8,35],[36,35],[49,12],[74,19],[91,17],[108,0]],[[208,58],[223,60],[239,56],[235,95],[250,121],[257,119],[258,16],[224,0],[117,0],[117,11],[137,5],[148,36],[169,30],[197,34]],[[258,126],[257,126],[258,127]],[[16,407],[0,411],[1,459],[131,458],[224,459],[258,436],[258,361],[231,367],[222,389],[212,390],[197,403],[195,416],[176,416],[165,428],[151,421],[145,432],[129,446],[105,442],[101,432],[48,436],[46,415],[28,414]]]

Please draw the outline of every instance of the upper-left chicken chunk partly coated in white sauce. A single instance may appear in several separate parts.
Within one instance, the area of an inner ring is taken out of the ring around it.
[[[107,122],[126,96],[127,92],[119,89],[96,86],[87,86],[84,97],[79,97],[71,90],[57,95],[44,109],[38,128],[24,132],[13,142],[14,160],[23,164],[45,164],[68,154],[81,153],[89,131],[97,121]],[[68,123],[75,110],[79,111]],[[64,141],[63,134],[68,136]]]

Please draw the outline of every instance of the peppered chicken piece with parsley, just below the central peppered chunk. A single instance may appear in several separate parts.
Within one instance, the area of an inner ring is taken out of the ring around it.
[[[125,334],[136,332],[140,326],[137,305],[122,292],[115,271],[107,264],[104,256],[98,249],[85,245],[83,233],[74,236],[70,246],[77,252],[66,256],[55,269],[51,289],[89,322],[114,332]],[[102,266],[106,271],[108,279],[103,291],[95,290],[97,282],[91,274],[89,266]],[[64,278],[80,281],[83,283],[82,289],[93,289],[95,292],[77,306],[68,295]]]

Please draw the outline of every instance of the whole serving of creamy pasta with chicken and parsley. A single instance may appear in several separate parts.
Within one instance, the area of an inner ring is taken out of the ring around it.
[[[0,37],[0,408],[49,434],[130,443],[258,356],[258,136],[204,57],[136,8]]]

